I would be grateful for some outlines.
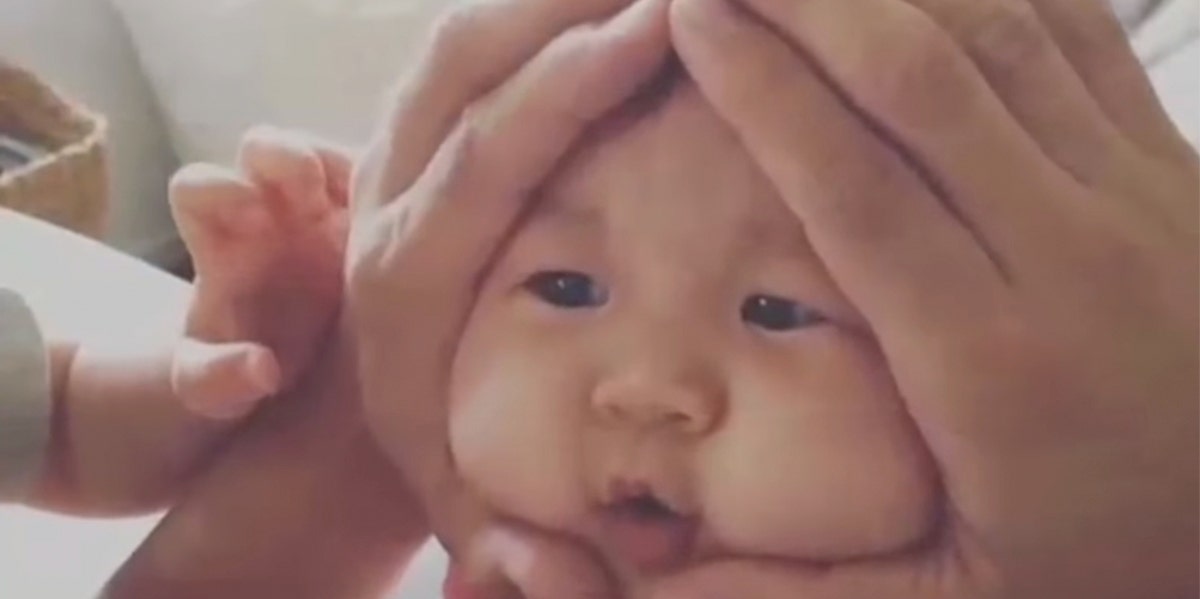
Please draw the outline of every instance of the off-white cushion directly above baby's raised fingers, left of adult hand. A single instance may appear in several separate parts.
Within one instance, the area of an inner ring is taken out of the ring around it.
[[[112,0],[185,161],[228,162],[251,125],[365,140],[449,0]]]

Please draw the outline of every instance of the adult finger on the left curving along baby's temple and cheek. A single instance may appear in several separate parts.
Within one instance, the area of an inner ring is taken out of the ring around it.
[[[445,489],[452,474],[439,394],[474,286],[559,157],[665,62],[666,4],[641,0],[552,42],[462,118],[403,202],[365,223],[374,240],[352,266],[356,318],[362,329],[378,325],[364,315],[379,315],[388,330],[361,336],[364,394],[427,394],[368,402],[383,438],[427,449],[394,451],[414,487]]]

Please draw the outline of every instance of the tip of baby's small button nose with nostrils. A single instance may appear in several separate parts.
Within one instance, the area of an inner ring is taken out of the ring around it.
[[[626,375],[601,382],[593,407],[608,426],[672,429],[690,436],[710,433],[725,411],[724,393],[703,377],[668,373]]]

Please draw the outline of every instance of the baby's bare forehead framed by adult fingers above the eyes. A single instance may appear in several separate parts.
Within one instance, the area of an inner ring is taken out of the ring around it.
[[[708,246],[803,244],[803,227],[690,82],[599,122],[544,190],[532,221]]]

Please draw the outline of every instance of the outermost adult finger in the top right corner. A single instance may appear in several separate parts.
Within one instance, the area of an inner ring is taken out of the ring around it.
[[[1157,155],[1189,156],[1116,14],[1100,0],[1025,0],[1092,96],[1129,139]]]

